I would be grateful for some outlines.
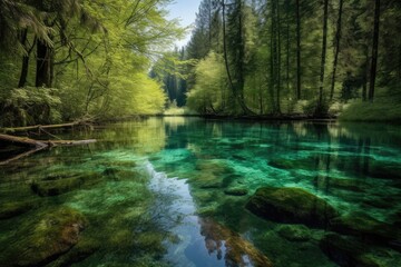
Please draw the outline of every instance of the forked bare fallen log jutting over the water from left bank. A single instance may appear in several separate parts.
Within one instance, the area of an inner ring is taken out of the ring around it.
[[[17,155],[13,158],[7,159],[4,161],[0,161],[0,166],[1,166],[1,165],[8,165],[11,161],[28,157],[37,151],[48,149],[51,147],[88,145],[88,144],[96,142],[96,139],[89,139],[89,140],[35,140],[35,139],[26,138],[26,137],[0,135],[0,141],[31,148],[30,150],[22,152],[20,155]]]

